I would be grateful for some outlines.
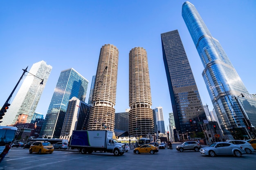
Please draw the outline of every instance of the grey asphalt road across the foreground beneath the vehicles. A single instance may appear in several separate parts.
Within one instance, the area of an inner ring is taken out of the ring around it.
[[[93,152],[81,154],[71,150],[54,150],[52,154],[32,153],[28,149],[11,148],[0,163],[0,170],[252,170],[256,169],[256,152],[242,157],[205,157],[200,152],[178,152],[160,149],[150,154],[133,153],[133,148],[122,156]],[[73,150],[76,151],[76,150]]]

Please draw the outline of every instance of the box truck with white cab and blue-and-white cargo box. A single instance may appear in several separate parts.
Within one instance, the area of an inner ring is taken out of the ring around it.
[[[82,154],[93,151],[110,152],[115,156],[126,152],[124,144],[112,139],[113,132],[109,130],[74,130],[70,147],[79,149]]]

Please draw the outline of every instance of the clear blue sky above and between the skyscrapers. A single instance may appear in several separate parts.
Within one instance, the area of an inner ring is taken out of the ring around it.
[[[128,56],[146,49],[152,108],[162,106],[165,127],[172,112],[162,56],[161,33],[177,29],[188,56],[203,104],[213,109],[202,78],[202,62],[181,15],[184,0],[1,0],[0,105],[22,69],[44,60],[52,73],[36,112],[46,115],[62,70],[74,68],[89,81],[96,74],[101,46],[119,49],[116,112],[128,105]],[[214,38],[218,39],[249,93],[256,93],[256,1],[191,0]],[[18,89],[16,90],[16,92]],[[14,99],[13,95],[11,101]]]

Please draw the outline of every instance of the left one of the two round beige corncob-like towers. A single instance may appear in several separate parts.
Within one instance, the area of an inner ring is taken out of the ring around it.
[[[118,56],[116,46],[105,44],[101,47],[88,130],[105,130],[105,127],[114,130]]]

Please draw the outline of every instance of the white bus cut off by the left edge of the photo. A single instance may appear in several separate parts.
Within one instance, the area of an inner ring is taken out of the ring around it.
[[[17,128],[13,126],[0,126],[0,153],[8,142],[12,142],[15,138]]]

